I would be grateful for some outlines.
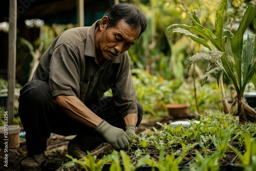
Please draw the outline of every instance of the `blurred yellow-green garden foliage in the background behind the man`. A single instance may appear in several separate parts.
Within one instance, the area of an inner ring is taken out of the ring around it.
[[[189,103],[189,111],[199,113],[204,113],[205,110],[222,109],[221,93],[216,76],[210,75],[204,87],[200,86],[200,74],[207,68],[208,61],[197,61],[197,67],[200,70],[191,69],[189,74],[185,67],[188,57],[197,52],[208,52],[208,50],[182,34],[175,34],[170,39],[169,34],[166,33],[169,25],[175,23],[190,25],[188,13],[197,15],[201,25],[214,32],[216,10],[221,0],[120,2],[137,4],[148,19],[147,30],[129,50],[138,100],[143,104],[145,113],[166,112],[167,103]],[[224,26],[231,30],[236,29],[248,5],[255,6],[256,3],[255,1],[229,0],[228,7],[225,9]],[[255,33],[255,24],[254,19],[253,24],[250,25],[250,32]],[[73,24],[41,26],[40,37],[35,42],[30,42],[33,46],[30,49],[37,50],[43,42],[41,54],[44,53],[57,35],[72,27],[76,26]],[[228,82],[226,83],[228,85]],[[197,103],[195,97],[197,97]]]

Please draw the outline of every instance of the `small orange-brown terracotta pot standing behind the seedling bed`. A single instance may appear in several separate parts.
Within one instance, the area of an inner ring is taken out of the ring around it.
[[[175,119],[186,118],[188,116],[188,107],[190,104],[167,104],[166,108],[170,116]]]

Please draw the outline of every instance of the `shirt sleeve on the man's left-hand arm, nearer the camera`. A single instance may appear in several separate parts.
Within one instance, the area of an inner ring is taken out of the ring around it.
[[[51,57],[49,86],[52,96],[65,95],[79,98],[79,57],[67,43],[57,46]]]

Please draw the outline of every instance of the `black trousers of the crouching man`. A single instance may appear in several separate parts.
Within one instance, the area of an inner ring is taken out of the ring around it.
[[[86,105],[111,125],[125,129],[123,119],[112,97],[102,97]],[[137,106],[136,126],[140,124],[143,114],[142,105],[137,102]],[[30,155],[46,151],[47,139],[51,133],[63,136],[77,135],[80,138],[89,136],[92,140],[104,141],[93,128],[83,125],[64,113],[55,104],[49,84],[44,81],[32,80],[20,90],[18,112],[26,132],[26,145]]]

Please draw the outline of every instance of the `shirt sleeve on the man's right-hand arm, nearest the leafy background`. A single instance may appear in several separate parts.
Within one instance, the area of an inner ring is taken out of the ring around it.
[[[119,113],[122,117],[128,114],[138,113],[136,103],[136,90],[132,80],[130,69],[130,58],[127,52],[120,67],[120,73],[112,88],[113,99],[119,106]]]

